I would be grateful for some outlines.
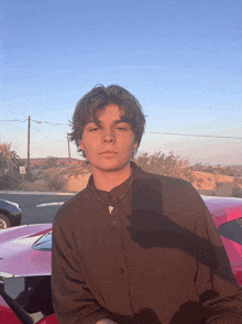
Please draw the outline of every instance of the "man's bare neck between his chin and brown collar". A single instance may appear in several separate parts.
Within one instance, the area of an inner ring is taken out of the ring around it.
[[[91,170],[95,186],[97,190],[110,192],[113,187],[122,184],[128,177],[131,176],[130,163],[122,170],[105,172],[97,169]]]

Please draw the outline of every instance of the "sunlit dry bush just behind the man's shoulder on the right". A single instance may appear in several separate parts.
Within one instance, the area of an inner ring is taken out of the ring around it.
[[[189,169],[189,161],[175,155],[169,151],[168,155],[157,152],[148,155],[143,153],[133,159],[144,171],[168,175],[172,177],[180,177],[189,182],[194,182],[196,177]]]

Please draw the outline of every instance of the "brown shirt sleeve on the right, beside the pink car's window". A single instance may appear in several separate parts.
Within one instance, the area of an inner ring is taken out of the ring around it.
[[[197,233],[200,236],[196,289],[202,304],[206,324],[242,323],[242,288],[239,285],[215,222],[197,191],[189,186],[196,199]]]

